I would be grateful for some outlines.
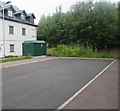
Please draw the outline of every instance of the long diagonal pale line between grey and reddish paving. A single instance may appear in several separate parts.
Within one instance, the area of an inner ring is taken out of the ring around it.
[[[97,76],[95,76],[91,81],[89,81],[84,87],[82,87],[78,92],[76,92],[72,97],[70,97],[66,102],[64,102],[60,107],[55,111],[62,110],[66,105],[68,105],[74,98],[76,98],[85,88],[87,88],[93,81],[95,81],[104,71],[106,71],[113,63],[117,60],[114,60],[111,64],[109,64],[105,69],[103,69]]]

